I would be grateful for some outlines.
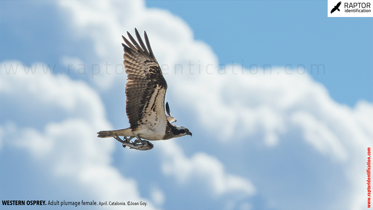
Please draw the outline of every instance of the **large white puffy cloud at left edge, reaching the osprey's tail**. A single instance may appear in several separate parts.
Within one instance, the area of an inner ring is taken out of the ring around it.
[[[144,201],[153,208],[140,196],[137,182],[125,178],[111,165],[114,141],[103,141],[96,136],[101,128],[111,127],[99,95],[85,82],[72,81],[65,75],[43,74],[41,64],[34,75],[23,71],[7,74],[4,68],[10,65],[22,66],[22,63],[1,63],[2,98],[18,104],[29,114],[32,110],[28,105],[34,103],[46,107],[46,113],[62,110],[66,115],[60,121],[46,123],[41,131],[31,125],[18,127],[15,122],[1,125],[2,144],[28,151],[44,163],[48,174],[57,179],[67,178],[96,200],[122,201],[126,195],[126,199]],[[38,115],[43,118],[45,113]]]

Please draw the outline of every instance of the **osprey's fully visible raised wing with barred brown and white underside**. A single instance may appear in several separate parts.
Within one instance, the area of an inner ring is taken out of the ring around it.
[[[123,63],[128,75],[126,113],[129,124],[131,128],[136,128],[140,124],[166,123],[166,113],[164,112],[166,80],[151,50],[146,32],[144,32],[144,37],[147,47],[145,47],[136,28],[135,33],[139,43],[129,32],[127,34],[132,43],[122,36],[126,43],[122,45],[124,47]]]

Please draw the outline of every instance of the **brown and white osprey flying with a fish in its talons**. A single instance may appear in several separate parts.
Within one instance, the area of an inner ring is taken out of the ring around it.
[[[151,50],[146,32],[144,31],[144,37],[147,47],[136,28],[135,33],[138,43],[128,31],[132,43],[122,36],[126,43],[122,43],[122,46],[124,47],[123,63],[127,73],[126,113],[130,127],[115,131],[100,131],[97,132],[97,137],[114,137],[123,144],[123,147],[150,150],[153,144],[145,140],[167,140],[185,135],[192,136],[192,133],[188,128],[172,124],[176,119],[171,116],[168,103],[166,103],[167,115],[164,112],[166,80]],[[123,136],[124,140],[119,136]],[[137,139],[131,142],[132,138]]]

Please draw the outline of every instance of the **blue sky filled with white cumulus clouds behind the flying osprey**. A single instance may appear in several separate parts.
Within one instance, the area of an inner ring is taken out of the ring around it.
[[[0,4],[1,200],[366,209],[373,18],[327,18],[326,1]],[[128,126],[126,75],[114,67],[122,62],[120,35],[134,27],[147,31],[158,62],[171,67],[163,70],[166,100],[175,124],[193,132],[145,152],[95,136]],[[213,75],[188,74],[189,61],[194,72],[211,64]],[[245,73],[233,75],[232,62]],[[23,65],[35,63],[37,73],[25,75]],[[96,63],[101,71],[92,76]],[[172,73],[177,63],[184,74]],[[18,73],[6,73],[17,64]],[[43,74],[48,64],[56,73]],[[68,64],[75,65],[69,74]],[[250,74],[252,64],[270,64],[274,73]],[[300,64],[307,73],[297,73]],[[311,74],[311,64],[326,73]]]

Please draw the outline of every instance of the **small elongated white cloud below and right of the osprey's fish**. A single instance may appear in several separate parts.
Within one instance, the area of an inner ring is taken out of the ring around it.
[[[158,146],[162,147],[164,156],[163,172],[166,175],[174,175],[179,182],[190,182],[197,177],[203,178],[217,195],[239,192],[245,197],[255,194],[255,187],[250,181],[227,173],[216,157],[195,153],[188,158],[174,141],[162,142]]]

